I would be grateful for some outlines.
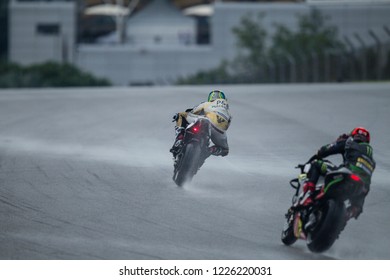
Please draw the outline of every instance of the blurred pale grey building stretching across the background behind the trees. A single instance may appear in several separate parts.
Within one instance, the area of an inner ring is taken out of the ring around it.
[[[203,15],[186,10],[180,14],[172,3],[149,0],[128,18],[126,40],[115,41],[115,31],[107,31],[114,40],[93,40],[93,44],[75,39],[76,2],[10,1],[10,60],[22,64],[70,62],[116,85],[171,84],[179,77],[231,60],[238,50],[232,28],[250,13],[263,12],[264,27],[272,34],[274,23],[296,26],[298,15],[316,8],[329,16],[329,24],[338,27],[340,39],[351,48],[390,39],[386,31],[390,28],[390,1],[385,0],[215,1]],[[173,2],[188,7],[185,1]],[[199,39],[199,19],[207,23],[203,41]]]

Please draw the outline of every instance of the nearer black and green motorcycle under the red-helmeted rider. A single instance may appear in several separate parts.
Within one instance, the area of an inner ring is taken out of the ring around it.
[[[299,164],[298,178],[290,181],[295,189],[292,197],[292,207],[286,213],[286,223],[281,240],[289,246],[298,239],[306,241],[311,252],[321,253],[328,250],[345,228],[349,215],[347,207],[354,196],[367,192],[362,179],[351,170],[337,168],[330,161],[324,160],[330,171],[325,177],[320,177],[314,192],[314,203],[311,206],[301,206],[303,198],[300,188],[307,181],[310,163]]]

